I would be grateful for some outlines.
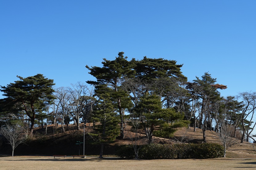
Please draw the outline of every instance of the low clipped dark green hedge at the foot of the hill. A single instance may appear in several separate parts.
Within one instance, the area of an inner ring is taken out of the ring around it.
[[[126,159],[134,158],[132,145],[119,147],[117,156]],[[219,144],[148,144],[138,152],[139,159],[209,159],[223,156],[223,147]]]

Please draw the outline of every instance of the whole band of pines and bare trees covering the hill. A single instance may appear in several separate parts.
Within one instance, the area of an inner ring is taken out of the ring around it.
[[[13,132],[8,131],[7,124],[24,129],[28,137],[33,136],[35,126],[47,135],[50,124],[60,124],[61,132],[65,132],[70,122],[76,124],[76,130],[81,123],[91,122],[94,130],[88,135],[94,144],[101,145],[100,157],[104,144],[117,136],[127,137],[127,123],[135,135],[131,137],[135,157],[140,148],[139,130],[143,130],[148,144],[152,136],[170,138],[184,126],[201,129],[206,143],[206,130],[214,130],[220,136],[224,156],[228,140],[237,138],[237,130],[242,132],[241,142],[252,138],[255,92],[221,97],[219,89],[227,87],[216,84],[209,73],[188,82],[181,72],[183,65],[174,60],[144,57],[128,61],[123,54],[118,53],[112,61],[104,58],[102,67],[86,65],[95,77],[87,84],[54,87],[52,79],[37,74],[17,76],[19,81],[1,86],[5,96],[0,99],[2,134]]]

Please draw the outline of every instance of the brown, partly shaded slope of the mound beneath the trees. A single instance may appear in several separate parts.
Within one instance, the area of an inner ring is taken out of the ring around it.
[[[35,135],[30,144],[21,145],[16,149],[17,153],[24,154],[78,154],[79,146],[76,145],[77,140],[83,141],[83,126],[81,130],[75,130],[75,125],[69,125],[67,130],[65,127],[65,132],[62,131],[61,125],[48,125],[47,135],[45,133],[45,126],[35,128]],[[85,134],[92,132],[92,124],[86,124]],[[139,132],[139,142],[138,144],[146,144],[147,139],[144,135],[143,130]],[[106,146],[105,154],[113,154],[114,149],[118,145],[132,144],[131,139],[134,137],[134,133],[131,131],[129,125],[125,128],[125,139],[120,139],[119,137],[109,146]],[[89,136],[85,139],[89,141]],[[218,133],[214,131],[206,131],[206,140],[208,143],[221,144]],[[86,143],[87,143],[86,142]],[[159,144],[175,144],[175,143],[202,143],[203,142],[203,132],[202,129],[196,129],[193,132],[193,128],[179,128],[174,136],[170,139],[160,138],[153,136],[153,143]],[[88,143],[87,143],[88,144]],[[5,149],[0,148],[1,152],[7,152]],[[24,147],[26,147],[26,153],[24,152]],[[5,147],[4,147],[5,148]],[[36,148],[36,149],[35,149]],[[255,147],[256,148],[256,147]],[[86,153],[98,154],[98,146],[86,145]],[[37,151],[37,152],[35,152]],[[8,151],[9,152],[9,151]],[[82,152],[82,146],[80,148],[80,153]],[[248,142],[240,143],[240,140],[236,140],[232,146],[227,148],[226,157],[228,158],[256,158],[256,151],[254,150],[252,144]]]

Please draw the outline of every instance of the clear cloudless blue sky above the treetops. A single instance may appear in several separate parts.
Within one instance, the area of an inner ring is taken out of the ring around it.
[[[188,80],[209,72],[225,97],[255,91],[255,9],[255,0],[0,0],[0,85],[37,73],[56,87],[85,82],[85,65],[123,51],[176,60]]]

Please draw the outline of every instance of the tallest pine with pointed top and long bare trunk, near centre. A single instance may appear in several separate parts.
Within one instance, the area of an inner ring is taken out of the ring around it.
[[[127,61],[127,57],[124,57],[124,52],[119,52],[118,57],[115,60],[107,60],[103,58],[103,67],[89,67],[86,68],[90,70],[89,74],[94,76],[97,81],[87,81],[91,85],[105,85],[107,88],[112,89],[112,98],[115,100],[118,106],[118,112],[120,116],[120,136],[124,138],[124,113],[126,105],[123,104],[123,99],[128,97],[127,93],[120,88],[122,81],[125,78],[130,78],[134,76],[133,61]]]

